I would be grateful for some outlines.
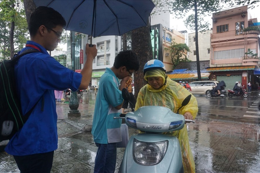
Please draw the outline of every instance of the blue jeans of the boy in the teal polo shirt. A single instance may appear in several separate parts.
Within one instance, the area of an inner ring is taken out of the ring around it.
[[[95,158],[94,173],[114,173],[117,161],[117,143],[100,144]]]

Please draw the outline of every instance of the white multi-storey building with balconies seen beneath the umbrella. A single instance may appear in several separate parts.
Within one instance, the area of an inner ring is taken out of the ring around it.
[[[77,35],[76,35],[77,34]],[[88,35],[76,33],[75,35],[75,61],[76,72],[80,72],[86,62],[85,46],[88,43]],[[98,54],[93,60],[93,72],[91,85],[98,86],[100,77],[104,74],[105,68],[111,68],[114,59],[121,50],[120,36],[101,36],[92,39],[98,49]],[[67,67],[71,69],[71,48],[70,41],[67,42]],[[80,63],[80,51],[83,50],[83,64]]]

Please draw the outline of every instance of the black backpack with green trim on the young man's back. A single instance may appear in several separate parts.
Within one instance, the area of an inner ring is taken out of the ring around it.
[[[0,63],[0,141],[8,140],[23,127],[33,108],[24,116],[21,111],[20,99],[16,92],[14,65],[25,54],[39,52],[37,49],[27,49],[20,55],[16,54],[11,60]]]

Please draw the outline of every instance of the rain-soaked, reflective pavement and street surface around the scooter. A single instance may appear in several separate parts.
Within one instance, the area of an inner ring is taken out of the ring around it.
[[[247,100],[250,103],[244,107],[250,108],[252,104],[259,104],[259,93],[252,94],[251,98],[249,97]],[[81,117],[68,117],[69,104],[57,104],[59,139],[58,149],[54,152],[51,171],[53,173],[93,172],[97,147],[90,130],[95,107],[95,94],[84,93],[78,98],[80,101],[78,110],[81,112]],[[222,102],[227,104],[228,98],[225,98],[226,101],[212,99],[211,102],[210,100],[205,101],[203,96],[196,96],[196,98],[202,111],[196,117],[196,123],[189,123],[187,126],[196,172],[260,172],[260,121],[253,118],[253,121],[243,119],[243,122],[240,122],[239,118],[243,118],[243,113],[236,117],[237,121],[233,121],[229,119],[228,115],[224,115],[225,111],[218,111],[219,116],[212,118],[213,115],[209,115],[212,110],[208,110],[208,107],[212,106],[212,103],[217,104],[218,102],[218,106],[224,106],[221,104]],[[228,102],[228,104],[231,103]],[[234,104],[234,106],[241,107],[239,102]],[[243,102],[241,104],[245,105]],[[237,112],[247,111],[246,108],[243,109],[245,110]],[[135,129],[129,128],[129,136],[136,133]],[[119,169],[123,155],[124,148],[118,148],[115,172]],[[13,157],[5,152],[0,153],[0,172],[19,172]]]

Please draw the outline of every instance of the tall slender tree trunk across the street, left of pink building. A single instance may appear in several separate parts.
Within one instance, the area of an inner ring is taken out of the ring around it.
[[[197,1],[194,1],[195,8],[195,46],[196,46],[196,60],[197,60],[197,71],[198,80],[201,80],[200,64],[199,64],[199,41],[198,41],[198,11],[197,11]]]

